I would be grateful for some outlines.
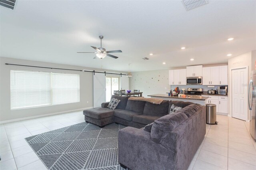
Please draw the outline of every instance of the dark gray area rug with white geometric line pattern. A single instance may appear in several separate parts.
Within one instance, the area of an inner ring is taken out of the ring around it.
[[[118,131],[79,123],[26,138],[49,170],[124,170],[118,164]]]

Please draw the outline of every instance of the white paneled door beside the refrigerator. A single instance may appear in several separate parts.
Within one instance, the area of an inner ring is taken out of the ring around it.
[[[248,119],[246,68],[232,70],[232,117],[246,121]]]

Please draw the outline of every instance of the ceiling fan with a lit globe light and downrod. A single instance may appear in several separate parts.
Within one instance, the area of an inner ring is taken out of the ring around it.
[[[100,38],[100,47],[97,48],[97,47],[91,46],[92,48],[96,49],[97,52],[77,52],[77,53],[96,53],[96,56],[94,57],[94,59],[97,57],[102,59],[106,56],[117,59],[118,57],[111,55],[109,53],[122,53],[122,51],[121,50],[106,51],[106,49],[102,48],[102,46],[101,46],[101,40],[103,39],[103,36],[99,36],[99,38]]]

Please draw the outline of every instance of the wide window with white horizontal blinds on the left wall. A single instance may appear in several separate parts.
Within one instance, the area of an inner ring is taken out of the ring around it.
[[[11,110],[80,101],[78,74],[10,72]]]

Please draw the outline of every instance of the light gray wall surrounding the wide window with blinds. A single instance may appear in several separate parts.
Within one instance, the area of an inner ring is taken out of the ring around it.
[[[86,67],[79,67],[74,65],[62,65],[55,63],[45,63],[38,61],[29,61],[21,59],[13,59],[0,57],[0,121],[8,121],[12,119],[20,119],[25,117],[40,116],[51,113],[59,113],[70,110],[83,109],[93,106],[93,73],[83,72],[83,71],[69,71],[69,70],[57,70],[57,69],[46,69],[46,68],[37,68],[37,67],[25,67],[25,66],[15,66],[15,65],[5,65],[5,63],[19,64],[19,65],[35,65],[41,67],[56,67],[56,68],[65,68],[65,69],[93,69]],[[80,74],[80,102],[79,103],[70,103],[64,105],[54,105],[54,106],[45,106],[29,109],[18,109],[10,110],[10,70],[29,70],[29,71],[46,71],[46,72],[57,72],[57,73],[76,73]],[[108,71],[108,70],[104,70]],[[120,73],[117,71],[111,71]],[[125,74],[125,73],[124,73]],[[88,101],[88,103],[87,103]]]

